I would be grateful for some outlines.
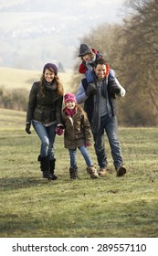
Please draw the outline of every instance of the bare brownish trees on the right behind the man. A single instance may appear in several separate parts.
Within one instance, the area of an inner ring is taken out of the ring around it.
[[[121,25],[102,24],[80,43],[100,50],[121,85],[126,89],[118,101],[121,125],[158,125],[158,1],[126,0],[126,17]],[[79,63],[74,67],[74,84],[79,87]]]

